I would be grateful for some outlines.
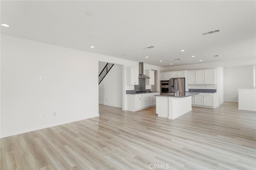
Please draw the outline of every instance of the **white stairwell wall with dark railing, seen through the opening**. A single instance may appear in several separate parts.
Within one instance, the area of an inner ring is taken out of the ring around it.
[[[106,62],[99,61],[99,73]],[[99,85],[99,103],[122,108],[122,65],[114,64]]]

